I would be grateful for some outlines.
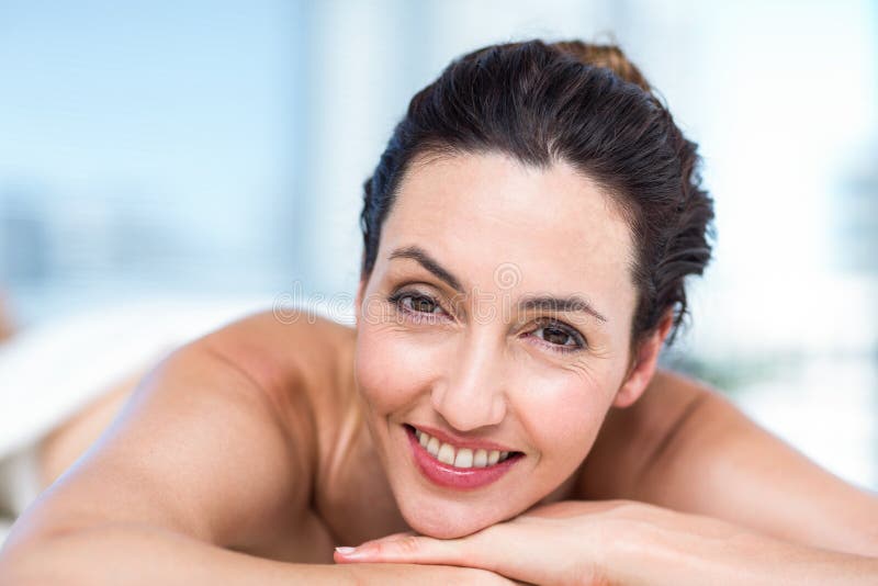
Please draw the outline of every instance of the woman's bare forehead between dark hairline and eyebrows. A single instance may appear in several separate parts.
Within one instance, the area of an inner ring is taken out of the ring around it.
[[[631,235],[614,202],[566,162],[548,169],[502,154],[415,161],[382,227],[380,258],[419,245],[464,286],[515,263],[528,290],[610,298],[631,288]]]

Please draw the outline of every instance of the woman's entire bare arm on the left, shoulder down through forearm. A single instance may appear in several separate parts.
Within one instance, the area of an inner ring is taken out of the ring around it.
[[[327,331],[255,316],[171,354],[19,519],[0,582],[289,584],[404,572],[295,563],[330,561],[334,545],[308,506],[305,388],[322,382]]]

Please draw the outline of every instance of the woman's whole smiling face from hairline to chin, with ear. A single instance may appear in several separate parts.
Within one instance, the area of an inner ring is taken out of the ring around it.
[[[354,373],[405,520],[451,538],[567,480],[654,357],[629,362],[633,244],[593,182],[499,154],[424,160],[358,292]]]

